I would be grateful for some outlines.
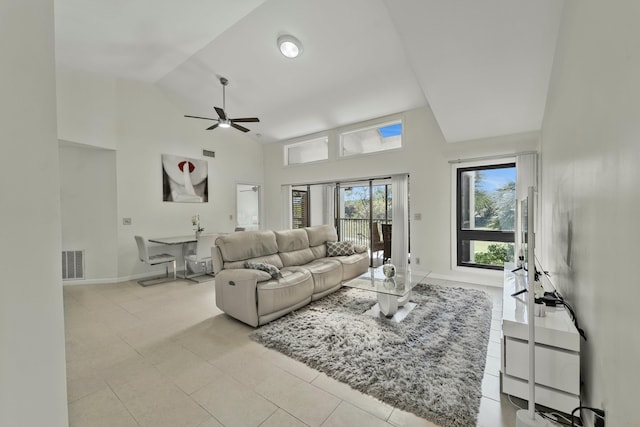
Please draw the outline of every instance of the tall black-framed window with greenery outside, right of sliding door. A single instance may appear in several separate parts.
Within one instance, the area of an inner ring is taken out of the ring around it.
[[[513,261],[515,163],[459,168],[457,265],[502,270]]]

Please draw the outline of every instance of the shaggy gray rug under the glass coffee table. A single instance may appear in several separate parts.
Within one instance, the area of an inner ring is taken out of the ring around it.
[[[342,288],[251,337],[352,388],[443,427],[475,426],[491,327],[491,299],[420,284],[400,323],[364,314],[373,292]]]

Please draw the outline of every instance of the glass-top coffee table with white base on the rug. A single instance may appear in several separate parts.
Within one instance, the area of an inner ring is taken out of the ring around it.
[[[428,275],[429,273],[412,274],[411,270],[396,269],[395,277],[388,279],[382,272],[382,267],[369,268],[366,273],[343,283],[342,286],[375,292],[378,303],[368,313],[376,317],[382,314],[400,322],[416,307],[415,303],[409,301],[411,290]]]

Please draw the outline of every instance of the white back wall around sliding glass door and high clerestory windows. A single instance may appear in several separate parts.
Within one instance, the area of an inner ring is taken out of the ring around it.
[[[339,159],[337,136],[343,130],[404,119],[404,143],[400,150]],[[537,134],[498,137],[480,141],[448,144],[428,107],[380,118],[344,129],[334,129],[329,135],[329,161],[299,166],[283,166],[283,143],[265,147],[265,200],[280,200],[282,184],[303,184],[390,176],[409,173],[412,213],[422,214],[421,221],[411,221],[411,256],[419,257],[421,265],[414,268],[430,270],[434,277],[501,285],[502,273],[479,269],[452,268],[451,227],[451,165],[449,160],[511,154],[537,150]],[[280,204],[266,206],[266,227],[280,227]]]

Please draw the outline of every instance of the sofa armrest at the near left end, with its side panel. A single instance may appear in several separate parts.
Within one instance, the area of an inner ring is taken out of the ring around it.
[[[222,270],[216,274],[216,305],[229,316],[258,326],[257,285],[270,279],[269,273],[260,270]]]

